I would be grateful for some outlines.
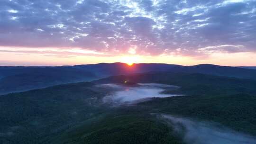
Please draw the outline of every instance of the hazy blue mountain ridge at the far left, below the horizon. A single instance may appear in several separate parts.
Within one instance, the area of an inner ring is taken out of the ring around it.
[[[0,94],[95,79],[91,72],[67,67],[0,67],[0,75]]]

